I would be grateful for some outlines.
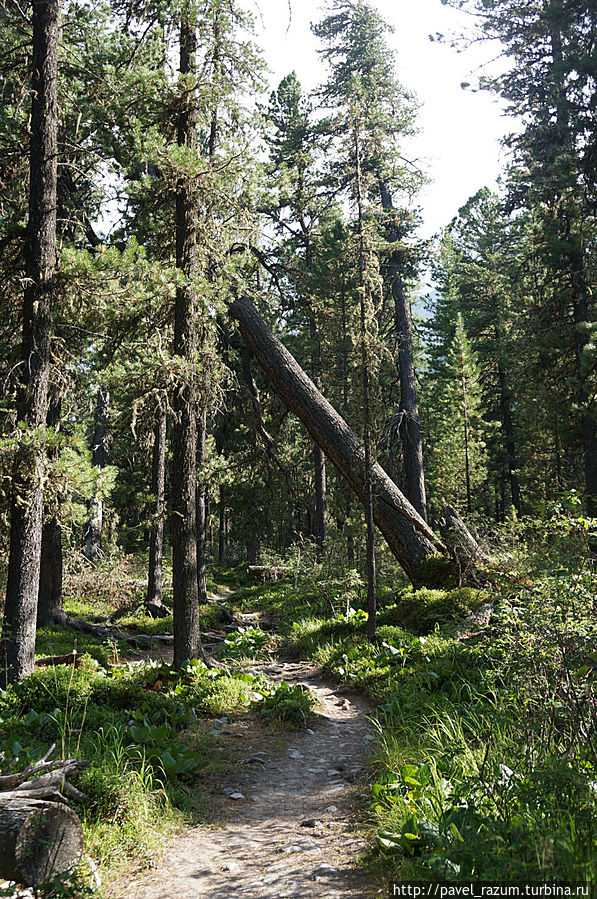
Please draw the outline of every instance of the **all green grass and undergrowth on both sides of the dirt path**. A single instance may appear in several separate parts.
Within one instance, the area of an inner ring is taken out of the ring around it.
[[[543,882],[597,874],[597,590],[586,535],[569,519],[511,528],[501,573],[483,591],[392,590],[386,576],[373,644],[354,571],[343,577],[337,565],[309,564],[275,583],[250,583],[244,569],[218,570],[210,580],[214,591],[238,587],[227,598],[233,611],[279,622],[282,654],[313,659],[377,703],[369,815],[387,877]],[[97,581],[88,598],[68,600],[71,614],[138,605],[138,586],[116,595],[111,576],[102,595],[101,573]],[[455,625],[487,601],[491,626],[459,641]],[[200,612],[203,629],[217,627],[216,606]],[[169,633],[172,619],[140,614],[119,624]],[[272,690],[246,670],[268,640],[246,628],[222,647],[226,668],[196,663],[175,673],[161,663],[111,666],[112,645],[77,635],[87,653],[80,669],[40,670],[0,697],[5,764],[15,755],[22,764],[39,758],[50,742],[87,758],[88,851],[108,872],[133,856],[150,864],[185,822],[205,820],[228,769],[210,718],[308,721],[308,694]],[[68,631],[38,634],[39,654],[66,654],[72,645]]]

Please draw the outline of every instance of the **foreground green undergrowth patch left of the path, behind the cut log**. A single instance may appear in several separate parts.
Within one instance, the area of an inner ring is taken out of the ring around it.
[[[86,851],[108,874],[131,857],[149,865],[175,830],[205,820],[228,771],[211,720],[266,705],[280,721],[293,711],[243,670],[196,660],[181,672],[152,662],[106,669],[84,655],[76,669],[42,668],[0,694],[0,768],[20,770],[51,744],[53,757],[85,759],[76,808]]]

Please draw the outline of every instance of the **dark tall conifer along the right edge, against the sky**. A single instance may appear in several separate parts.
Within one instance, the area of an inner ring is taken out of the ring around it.
[[[595,11],[578,0],[470,0],[479,36],[501,42],[513,61],[483,85],[508,103],[523,127],[507,141],[511,208],[534,216],[536,261],[545,279],[539,327],[559,336],[558,361],[574,378],[570,406],[582,447],[585,497],[597,515],[594,385]],[[538,328],[535,328],[535,332]]]

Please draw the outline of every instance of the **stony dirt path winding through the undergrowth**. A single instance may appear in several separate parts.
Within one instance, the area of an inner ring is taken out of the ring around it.
[[[237,777],[215,803],[213,828],[192,828],[153,871],[121,881],[114,899],[368,899],[358,869],[355,797],[366,790],[370,748],[365,702],[332,689],[304,663],[261,670],[271,680],[305,682],[319,708],[308,731],[289,732],[284,749],[249,740]],[[235,798],[236,797],[236,798]]]

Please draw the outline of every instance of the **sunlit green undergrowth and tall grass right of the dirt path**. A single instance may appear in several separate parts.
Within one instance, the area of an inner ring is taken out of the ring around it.
[[[397,879],[597,876],[597,582],[582,519],[513,522],[493,584],[380,597],[316,575],[239,595],[280,618],[282,651],[378,704],[369,814]],[[236,597],[235,597],[236,599]],[[455,625],[491,602],[491,624]]]

